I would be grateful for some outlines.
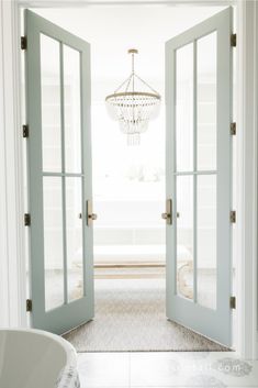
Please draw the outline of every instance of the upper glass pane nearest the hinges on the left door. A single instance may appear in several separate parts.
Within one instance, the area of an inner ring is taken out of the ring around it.
[[[61,170],[59,43],[41,34],[42,163],[44,171]]]

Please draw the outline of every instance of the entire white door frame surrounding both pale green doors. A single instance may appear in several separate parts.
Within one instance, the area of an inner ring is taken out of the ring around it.
[[[139,1],[139,5],[168,4],[203,5],[200,0]],[[94,4],[114,4],[115,1],[97,1]],[[117,4],[128,4],[117,1]],[[136,5],[135,2],[132,4]],[[257,332],[257,199],[258,199],[258,3],[255,0],[224,1],[237,5],[237,88],[235,96],[237,136],[236,169],[237,222],[234,226],[233,252],[236,257],[236,334],[235,348],[244,358],[258,358]],[[76,5],[89,7],[86,1]],[[220,0],[206,0],[206,5],[222,5]],[[24,138],[22,137],[22,90],[20,55],[20,13],[22,8],[72,7],[72,1],[14,0],[0,3],[0,326],[26,326],[25,312],[25,212],[23,188]],[[254,77],[250,77],[250,75]],[[4,226],[4,228],[3,228]]]

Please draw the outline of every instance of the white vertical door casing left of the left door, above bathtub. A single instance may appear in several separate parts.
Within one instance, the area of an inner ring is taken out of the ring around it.
[[[13,1],[0,3],[0,326],[25,322],[20,32]],[[21,311],[21,307],[24,307]]]

